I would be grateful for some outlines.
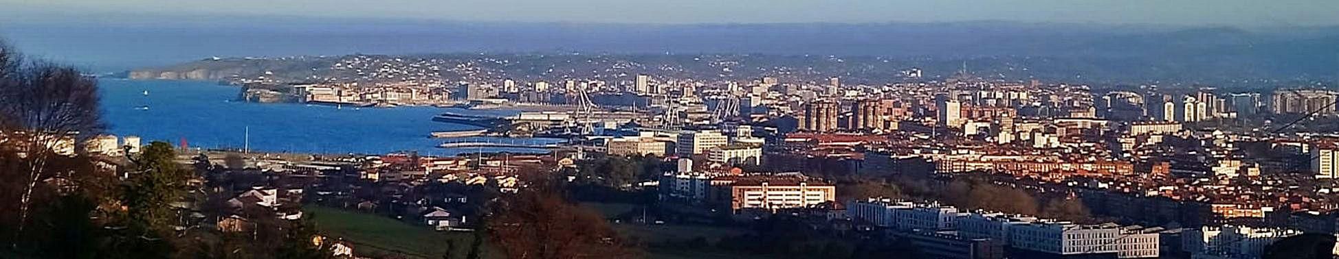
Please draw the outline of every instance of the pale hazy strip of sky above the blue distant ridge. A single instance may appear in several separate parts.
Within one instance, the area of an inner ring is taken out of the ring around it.
[[[1339,25],[1336,15],[1339,0],[0,0],[0,3],[25,5],[0,11],[0,16],[8,17],[0,17],[0,21],[70,20],[79,13],[110,12],[676,24],[1011,20],[1239,27]],[[51,16],[51,12],[58,16]]]

